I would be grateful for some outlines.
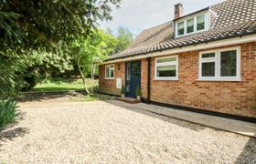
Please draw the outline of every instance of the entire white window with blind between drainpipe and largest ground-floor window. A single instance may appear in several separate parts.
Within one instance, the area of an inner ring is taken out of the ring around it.
[[[166,56],[155,59],[155,80],[178,79],[178,56]]]

